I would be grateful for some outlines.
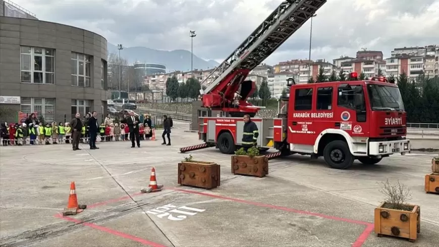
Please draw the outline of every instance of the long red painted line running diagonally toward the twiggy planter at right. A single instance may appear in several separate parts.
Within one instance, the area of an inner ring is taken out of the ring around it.
[[[196,195],[212,197],[212,198],[217,198],[217,199],[223,199],[223,200],[228,200],[228,201],[232,201],[232,202],[240,202],[240,203],[245,203],[245,204],[249,204],[249,205],[253,205],[253,206],[257,206],[257,207],[278,209],[278,210],[282,210],[285,212],[293,212],[293,213],[298,213],[298,214],[318,216],[318,217],[325,218],[325,219],[343,221],[343,222],[348,222],[348,223],[353,223],[353,224],[358,224],[358,225],[369,225],[370,224],[369,222],[365,222],[365,221],[351,220],[351,219],[346,219],[346,218],[341,218],[341,217],[336,217],[336,216],[331,216],[331,215],[326,215],[326,214],[320,214],[320,213],[313,213],[313,212],[309,212],[309,211],[281,207],[281,206],[276,206],[276,205],[271,205],[271,204],[251,202],[251,201],[246,201],[246,200],[237,199],[237,198],[208,194],[208,193],[204,193],[204,192],[196,192],[196,191],[182,190],[182,189],[176,189],[176,188],[169,188],[168,190],[180,191],[180,192],[184,192],[184,193],[196,194]]]

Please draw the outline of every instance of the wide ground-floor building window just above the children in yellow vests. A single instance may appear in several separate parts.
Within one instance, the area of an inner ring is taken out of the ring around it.
[[[46,123],[55,120],[55,99],[21,97],[20,108],[23,113],[36,112],[38,116],[42,115]]]

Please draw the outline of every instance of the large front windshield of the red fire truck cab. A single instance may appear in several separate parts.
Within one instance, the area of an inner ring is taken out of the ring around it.
[[[367,85],[372,110],[404,110],[401,93],[397,87]]]

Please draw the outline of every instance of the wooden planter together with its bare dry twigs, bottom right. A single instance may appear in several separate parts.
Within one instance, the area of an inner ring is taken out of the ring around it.
[[[420,232],[420,207],[407,204],[411,199],[410,190],[397,181],[394,184],[382,182],[380,192],[385,195],[385,202],[375,208],[375,233],[408,238],[414,242]]]

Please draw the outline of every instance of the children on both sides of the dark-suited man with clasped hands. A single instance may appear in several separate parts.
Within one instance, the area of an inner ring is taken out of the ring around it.
[[[101,123],[99,126],[100,141],[128,141],[130,140],[130,129],[128,125],[121,123],[110,123],[105,125]],[[144,127],[142,123],[139,125],[140,140],[149,140],[151,138],[149,127]]]

